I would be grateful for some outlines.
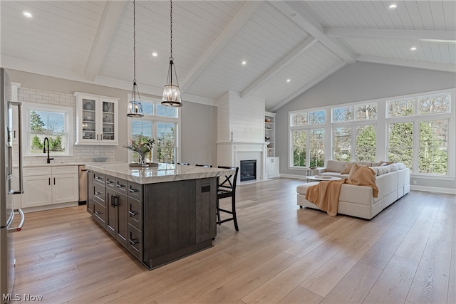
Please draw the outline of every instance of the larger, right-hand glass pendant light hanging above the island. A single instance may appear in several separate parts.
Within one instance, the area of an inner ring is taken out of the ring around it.
[[[172,58],[172,0],[170,0],[170,20],[171,20],[171,39],[170,39],[170,68],[168,68],[168,76],[165,88],[163,88],[162,105],[168,107],[182,107],[180,100],[179,83],[177,82],[176,67],[174,65],[174,58]],[[174,83],[173,83],[174,81]]]

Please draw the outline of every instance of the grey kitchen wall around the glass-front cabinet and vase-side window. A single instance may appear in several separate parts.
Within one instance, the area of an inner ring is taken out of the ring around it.
[[[91,85],[90,83],[81,83],[73,80],[52,78],[33,73],[25,73],[18,70],[7,69],[7,72],[12,82],[21,83],[21,88],[60,93],[65,96],[73,96],[73,93],[75,92],[83,92],[119,98],[119,145],[110,149],[114,150],[114,160],[120,162],[127,161],[128,152],[122,145],[123,142],[126,143],[128,139],[126,109],[128,103],[127,95],[131,93],[131,91]],[[141,88],[139,89],[141,90]],[[144,95],[144,97],[147,97],[147,95]],[[151,97],[161,98],[158,96]],[[209,164],[217,164],[217,147],[215,145],[217,138],[217,108],[209,105],[187,103],[185,102],[185,94],[182,95],[182,99],[184,100],[181,120],[182,157],[179,160],[192,163],[204,160],[204,162]],[[73,100],[76,104],[76,98],[73,97]],[[123,112],[125,112],[125,115],[122,115]],[[76,112],[74,113],[74,117],[76,118]],[[100,146],[96,147],[97,150],[101,150],[101,148],[98,149]],[[90,151],[92,148],[93,146],[86,146],[86,150]],[[82,146],[81,149],[83,149]],[[87,157],[91,157],[89,155],[90,152],[84,153],[87,154]],[[101,153],[102,152],[100,151],[100,154]],[[111,153],[109,152],[108,154],[109,155],[107,156],[111,157]]]

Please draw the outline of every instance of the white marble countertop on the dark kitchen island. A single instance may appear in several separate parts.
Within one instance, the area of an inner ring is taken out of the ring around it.
[[[86,164],[86,169],[101,174],[108,174],[120,179],[126,179],[138,184],[154,184],[159,182],[174,182],[186,179],[204,179],[234,174],[234,170],[185,166],[181,164],[160,163],[158,167],[135,168],[128,167],[128,163],[93,163]]]

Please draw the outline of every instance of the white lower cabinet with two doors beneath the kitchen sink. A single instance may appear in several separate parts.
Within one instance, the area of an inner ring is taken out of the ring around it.
[[[24,168],[22,208],[79,200],[78,166]]]

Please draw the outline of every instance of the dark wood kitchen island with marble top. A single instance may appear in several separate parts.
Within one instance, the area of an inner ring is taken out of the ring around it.
[[[160,163],[87,164],[93,219],[147,268],[212,247],[217,177],[229,169]]]

